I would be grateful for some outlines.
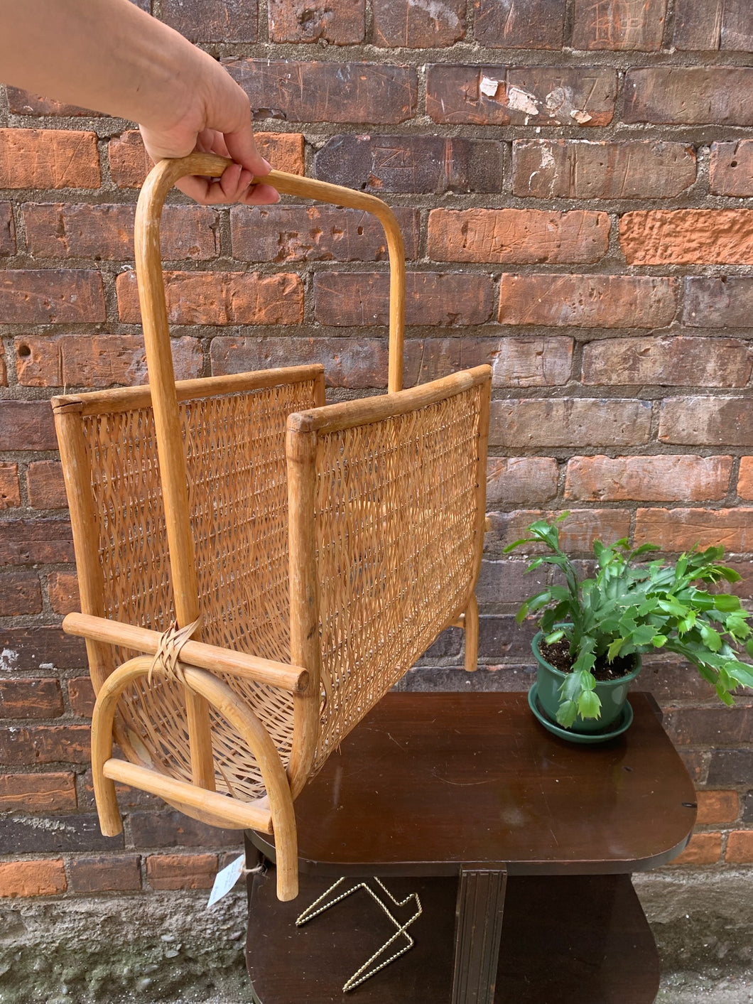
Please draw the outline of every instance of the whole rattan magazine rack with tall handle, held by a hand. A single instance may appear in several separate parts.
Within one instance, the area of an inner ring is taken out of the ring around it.
[[[102,831],[121,828],[120,781],[215,825],[274,832],[278,896],[292,899],[293,800],[306,780],[449,624],[464,623],[475,668],[491,372],[401,390],[405,263],[392,212],[273,172],[280,192],[383,223],[389,393],[325,405],[320,365],[176,383],[160,214],[179,178],[227,163],[164,161],[142,190],[150,386],[53,401],[82,611],[63,625],[86,639],[97,693]],[[150,657],[173,621],[192,638],[171,669]]]

